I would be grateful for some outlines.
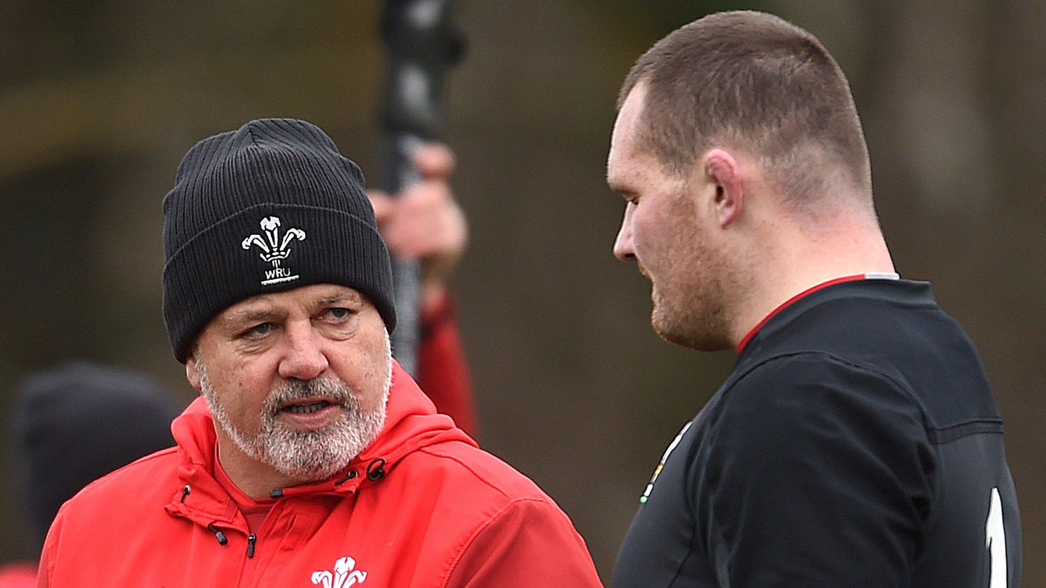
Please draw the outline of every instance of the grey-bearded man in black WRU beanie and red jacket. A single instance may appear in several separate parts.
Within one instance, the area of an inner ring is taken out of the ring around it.
[[[320,129],[201,141],[163,209],[164,318],[203,398],[177,448],[62,507],[40,586],[600,585],[555,503],[391,359],[388,251]]]

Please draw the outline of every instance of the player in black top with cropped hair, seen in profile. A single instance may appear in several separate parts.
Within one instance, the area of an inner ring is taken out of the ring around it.
[[[895,273],[817,39],[753,12],[669,33],[621,88],[607,177],[655,331],[738,353],[644,489],[612,586],[1019,585],[987,377],[930,285]]]

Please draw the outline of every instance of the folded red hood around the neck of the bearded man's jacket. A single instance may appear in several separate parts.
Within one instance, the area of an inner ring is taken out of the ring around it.
[[[203,397],[195,400],[170,426],[178,444],[180,488],[166,505],[168,513],[201,525],[240,526],[238,507],[214,478],[218,443],[214,422]],[[340,472],[318,482],[273,489],[272,498],[303,495],[347,495],[366,492],[395,470],[396,463],[422,448],[446,442],[476,442],[454,425],[422,392],[400,364],[392,361],[392,386],[385,424],[378,437]]]

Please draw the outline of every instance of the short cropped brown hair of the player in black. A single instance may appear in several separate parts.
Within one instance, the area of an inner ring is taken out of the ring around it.
[[[692,172],[712,146],[759,157],[788,198],[844,178],[869,198],[857,107],[839,65],[810,32],[765,13],[709,15],[676,29],[632,67],[617,108],[640,84],[639,144],[667,171]]]

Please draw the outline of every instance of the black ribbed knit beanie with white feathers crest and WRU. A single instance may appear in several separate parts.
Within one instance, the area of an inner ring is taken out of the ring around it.
[[[163,318],[182,363],[226,308],[310,284],[358,290],[395,329],[363,173],[311,122],[251,120],[190,149],[163,199]]]

